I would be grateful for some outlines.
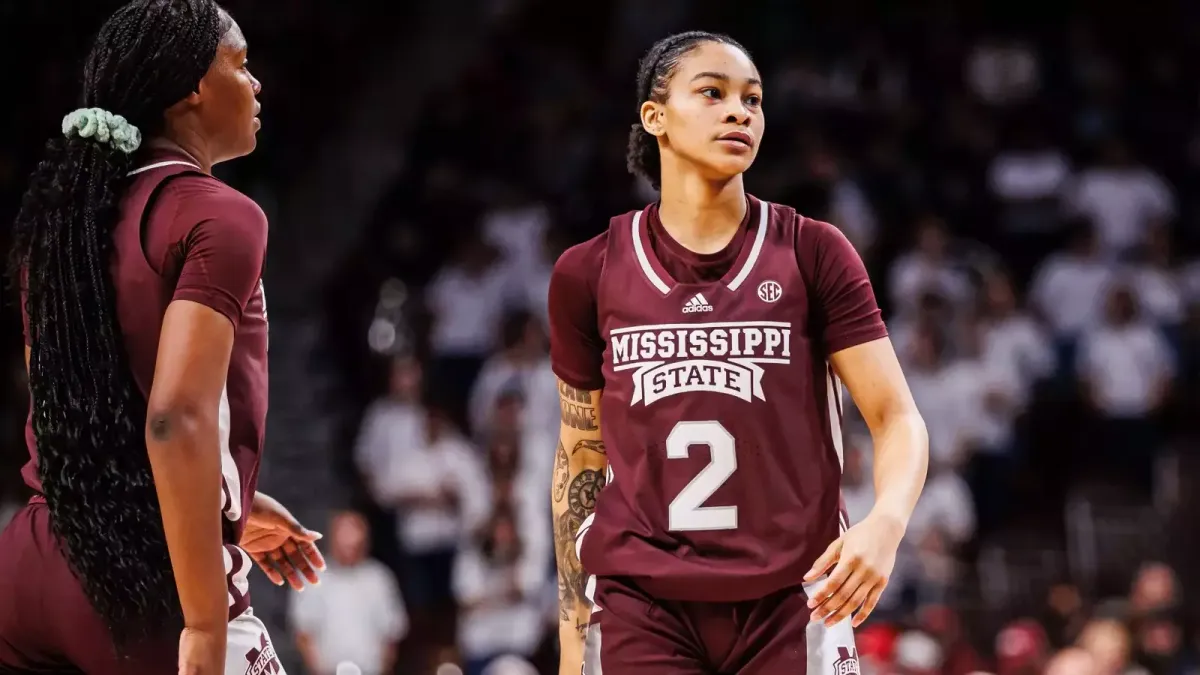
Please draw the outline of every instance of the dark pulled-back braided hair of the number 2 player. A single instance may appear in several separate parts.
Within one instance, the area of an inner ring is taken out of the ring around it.
[[[692,49],[707,42],[719,42],[750,52],[736,40],[719,32],[690,30],[664,37],[654,43],[637,64],[637,104],[646,101],[664,102],[667,98],[667,86],[674,76],[679,61]],[[662,163],[659,159],[658,139],[641,123],[629,130],[629,150],[625,153],[625,166],[629,173],[648,180],[655,190],[662,186]]]

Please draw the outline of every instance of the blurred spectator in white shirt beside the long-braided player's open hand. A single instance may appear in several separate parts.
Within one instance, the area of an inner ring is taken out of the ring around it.
[[[391,572],[367,557],[367,522],[358,513],[334,516],[331,565],[320,584],[290,596],[296,646],[311,675],[334,675],[349,661],[364,675],[391,673],[408,614]]]

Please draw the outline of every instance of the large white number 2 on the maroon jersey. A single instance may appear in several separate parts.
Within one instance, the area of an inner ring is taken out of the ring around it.
[[[673,532],[737,530],[738,507],[702,506],[738,470],[733,435],[719,422],[680,422],[667,436],[667,458],[686,459],[692,446],[708,446],[710,459],[671,501],[667,528]]]

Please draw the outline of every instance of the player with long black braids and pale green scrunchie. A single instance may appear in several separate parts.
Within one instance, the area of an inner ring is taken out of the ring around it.
[[[0,536],[0,671],[277,675],[252,557],[322,562],[254,490],[266,219],[211,177],[254,149],[246,41],[212,0],[134,0],[83,79],[14,231],[37,495]]]

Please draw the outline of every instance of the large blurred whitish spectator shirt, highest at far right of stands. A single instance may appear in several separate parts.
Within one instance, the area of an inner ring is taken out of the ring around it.
[[[1175,214],[1175,196],[1148,168],[1096,167],[1079,175],[1068,207],[1096,225],[1102,249],[1120,253],[1141,244],[1154,221]]]

